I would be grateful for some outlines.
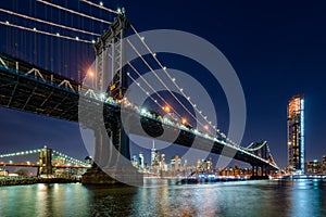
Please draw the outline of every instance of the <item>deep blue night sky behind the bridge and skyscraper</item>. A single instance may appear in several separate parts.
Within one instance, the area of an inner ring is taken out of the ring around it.
[[[51,2],[106,21],[113,18],[108,12],[78,0]],[[267,140],[279,166],[287,164],[287,103],[292,95],[303,92],[306,159],[321,159],[322,155],[326,155],[323,139],[326,132],[325,2],[104,0],[103,3],[111,9],[125,7],[129,21],[138,31],[162,28],[184,30],[218,48],[235,68],[246,95],[247,126],[242,145]],[[0,8],[93,33],[102,33],[108,27],[59,12],[35,0],[2,0]],[[54,27],[26,22],[5,13],[0,13],[0,20],[58,31]],[[83,77],[93,60],[91,44],[36,36],[5,26],[0,26],[0,33],[1,52],[61,72],[64,76],[76,79]],[[162,62],[196,75],[204,84],[217,105],[218,126],[222,131],[227,131],[228,108],[218,84],[212,82],[199,66],[181,58],[172,60],[163,55]],[[88,155],[76,123],[0,108],[0,153],[47,144],[77,158]]]

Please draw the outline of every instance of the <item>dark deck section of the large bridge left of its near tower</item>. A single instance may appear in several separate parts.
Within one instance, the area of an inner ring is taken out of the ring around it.
[[[117,108],[103,105],[85,95],[87,89],[83,89],[79,82],[13,58],[4,59],[3,55],[0,58],[8,66],[5,68],[0,64],[0,105],[2,107],[78,122],[78,104],[89,103],[91,105],[89,111],[84,110],[83,113],[86,116],[85,119],[88,116],[91,117],[95,111],[100,111],[95,106],[101,106],[104,114],[109,114],[105,117],[105,124],[112,122],[112,112],[116,112]],[[16,63],[18,63],[18,71],[14,69]],[[37,68],[39,74],[27,74],[32,68]],[[64,86],[64,82],[70,86]]]

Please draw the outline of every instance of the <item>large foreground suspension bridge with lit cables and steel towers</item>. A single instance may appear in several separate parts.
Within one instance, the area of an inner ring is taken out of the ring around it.
[[[88,175],[86,174],[85,183],[101,182],[101,179],[108,179],[104,175],[93,178],[95,174],[98,174],[99,167],[109,174],[113,180],[130,182],[135,177],[138,177],[135,175],[137,174],[136,169],[131,168],[129,162],[129,133],[159,138],[163,132],[167,132],[176,135],[173,143],[186,148],[191,148],[196,139],[198,144],[195,148],[198,150],[250,164],[252,176],[255,178],[266,177],[271,170],[279,169],[266,141],[240,146],[225,136],[216,124],[203,114],[200,107],[204,105],[201,106],[190,100],[186,90],[183,89],[183,81],[176,81],[159,60],[159,53],[156,55],[151,50],[146,38],[137,31],[131,21],[128,20],[123,8],[115,11],[102,3],[96,4],[88,0],[79,1],[80,4],[87,4],[111,14],[112,21],[105,21],[73,10],[68,5],[57,4],[54,1],[36,0],[35,3],[45,7],[46,10],[51,10],[51,12],[55,10],[64,13],[65,16],[71,14],[74,17],[80,16],[92,23],[99,23],[99,26],[103,26],[101,30],[104,31],[98,34],[39,18],[36,15],[26,15],[14,9],[0,9],[1,14],[9,17],[7,21],[0,21],[7,30],[5,33],[9,35],[11,29],[18,29],[18,33],[33,34],[34,39],[41,35],[51,38],[51,41],[62,40],[65,44],[80,43],[92,47],[96,53],[93,67],[83,76],[80,76],[80,72],[78,75],[74,75],[72,72],[62,75],[38,66],[35,62],[24,60],[22,55],[2,52],[0,53],[0,104],[3,107],[22,112],[78,122],[83,127],[93,130],[96,166],[89,169]],[[25,20],[27,25],[23,25],[24,22],[13,23],[12,21],[15,20],[10,20],[10,17]],[[38,28],[32,24],[38,24]],[[72,31],[79,35],[72,37],[72,35],[64,35],[57,30],[53,31],[53,29],[63,29],[62,33]],[[130,35],[133,35],[134,40],[128,39]],[[9,41],[10,36],[8,38]],[[149,55],[142,56],[139,47],[145,49]],[[146,68],[137,68],[137,64],[126,61],[127,48],[143,63]],[[54,51],[55,48],[52,49],[52,52]],[[43,52],[49,51],[43,50]],[[53,60],[46,61],[53,62]],[[153,69],[152,64],[160,67],[170,84],[161,79],[161,75]],[[155,82],[166,87],[170,98],[173,98],[178,104],[171,106],[170,99],[155,91],[153,84],[142,76],[142,71],[150,72],[156,78]],[[79,79],[80,77],[85,79]],[[142,82],[138,82],[137,78]],[[131,84],[136,84],[139,91],[147,95],[147,99],[155,104],[160,111],[149,110],[133,103],[133,99],[126,97]],[[172,91],[171,85],[179,90],[183,99],[187,100],[187,104]],[[150,94],[151,91],[155,94]],[[177,107],[181,107],[181,110]],[[195,115],[189,107],[196,111],[199,116]],[[164,115],[167,113],[170,115]],[[127,119],[126,123],[122,122],[123,116]],[[190,117],[196,125],[190,124],[192,122],[185,116]],[[102,124],[99,125],[99,123]],[[139,126],[142,128],[141,130],[139,130]],[[87,178],[87,176],[89,177]]]

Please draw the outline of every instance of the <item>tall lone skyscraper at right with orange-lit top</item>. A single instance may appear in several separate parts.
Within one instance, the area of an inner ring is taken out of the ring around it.
[[[304,173],[304,98],[294,95],[288,104],[288,166]]]

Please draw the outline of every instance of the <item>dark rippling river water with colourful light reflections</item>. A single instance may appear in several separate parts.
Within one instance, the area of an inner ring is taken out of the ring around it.
[[[326,180],[177,186],[146,179],[145,188],[0,187],[0,216],[326,216]]]

